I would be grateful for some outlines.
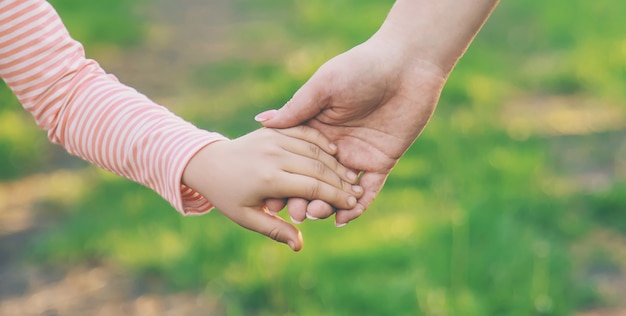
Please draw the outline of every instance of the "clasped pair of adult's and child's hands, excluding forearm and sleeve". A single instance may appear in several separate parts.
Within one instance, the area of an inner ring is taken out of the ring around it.
[[[446,81],[439,67],[392,46],[374,36],[331,59],[283,108],[256,117],[288,129],[205,147],[183,182],[234,222],[294,251],[300,232],[273,215],[285,199],[294,222],[334,209],[337,226],[357,218],[428,123]]]

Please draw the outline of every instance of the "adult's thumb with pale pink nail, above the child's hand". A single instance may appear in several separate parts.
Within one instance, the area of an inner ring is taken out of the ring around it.
[[[257,114],[254,119],[265,127],[288,128],[300,125],[319,114],[326,105],[322,86],[313,76],[279,110],[269,110]]]

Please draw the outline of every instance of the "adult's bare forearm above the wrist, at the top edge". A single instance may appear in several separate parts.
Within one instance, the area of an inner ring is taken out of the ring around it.
[[[424,61],[446,75],[472,42],[498,0],[397,0],[375,38],[405,63]]]

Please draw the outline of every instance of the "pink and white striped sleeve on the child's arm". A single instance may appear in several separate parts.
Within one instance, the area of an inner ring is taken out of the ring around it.
[[[181,178],[198,150],[225,138],[196,128],[86,59],[45,0],[0,1],[0,77],[69,153],[153,189],[183,214],[211,209]]]

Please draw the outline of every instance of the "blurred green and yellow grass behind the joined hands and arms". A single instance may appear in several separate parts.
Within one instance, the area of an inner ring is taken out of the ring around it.
[[[192,87],[180,113],[231,137],[257,128],[255,113],[280,106],[323,61],[367,39],[391,3],[234,1],[241,19],[265,23],[243,25],[237,38],[286,47],[172,78]],[[137,4],[53,4],[88,49],[141,42]],[[601,305],[576,272],[587,263],[570,249],[598,227],[626,233],[624,178],[600,191],[559,189],[573,182],[553,150],[560,137],[513,137],[500,113],[510,100],[545,95],[622,106],[625,15],[616,0],[503,2],[368,212],[342,229],[301,225],[299,254],[217,212],[181,217],[153,192],[102,173],[32,246],[33,259],[121,265],[172,291],[217,295],[229,315],[568,315]],[[16,122],[19,106],[6,89],[0,98],[0,122]],[[36,168],[26,158],[44,145],[31,140],[36,132],[9,126],[0,124],[0,175],[16,177],[23,173],[11,170]],[[617,161],[606,155],[590,156]],[[598,258],[589,264],[602,266]]]

